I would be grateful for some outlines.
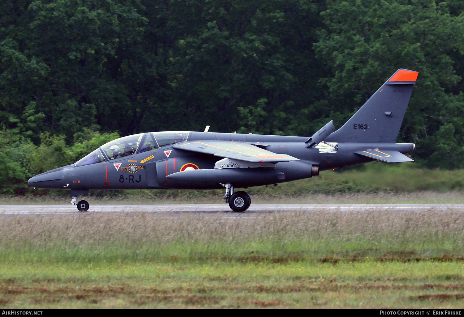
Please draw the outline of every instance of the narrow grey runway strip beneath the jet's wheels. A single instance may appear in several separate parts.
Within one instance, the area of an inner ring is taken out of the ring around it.
[[[290,210],[314,211],[324,209],[329,211],[368,211],[368,210],[387,210],[392,211],[418,211],[427,209],[461,209],[464,204],[460,203],[399,203],[399,204],[252,204],[243,213],[232,212],[229,205],[224,204],[203,204],[203,205],[90,205],[86,213],[95,212],[164,212],[164,213],[218,213],[231,214],[263,213],[263,212],[284,212]],[[66,215],[79,214],[74,205],[0,205],[0,215]]]

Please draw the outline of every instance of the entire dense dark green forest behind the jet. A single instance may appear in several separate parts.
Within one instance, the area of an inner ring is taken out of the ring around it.
[[[0,193],[118,136],[309,136],[399,68],[399,141],[464,168],[464,1],[1,0]]]

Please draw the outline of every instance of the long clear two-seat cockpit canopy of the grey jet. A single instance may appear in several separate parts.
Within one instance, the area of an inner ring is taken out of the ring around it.
[[[187,131],[168,131],[128,135],[104,144],[78,160],[75,165],[84,166],[103,163],[106,160],[120,159],[137,153],[153,151],[158,147],[187,141],[188,134]]]

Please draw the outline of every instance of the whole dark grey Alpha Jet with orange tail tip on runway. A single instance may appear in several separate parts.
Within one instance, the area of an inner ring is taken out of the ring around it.
[[[150,132],[113,140],[76,163],[32,177],[33,187],[71,190],[219,189],[234,211],[250,196],[236,188],[278,184],[320,171],[380,160],[410,162],[415,145],[396,143],[418,72],[400,69],[338,130],[332,121],[311,137],[207,132]]]

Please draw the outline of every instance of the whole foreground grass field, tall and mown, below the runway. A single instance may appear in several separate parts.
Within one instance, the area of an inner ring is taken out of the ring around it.
[[[2,308],[462,308],[461,211],[0,222]]]

